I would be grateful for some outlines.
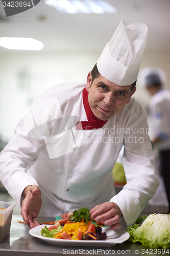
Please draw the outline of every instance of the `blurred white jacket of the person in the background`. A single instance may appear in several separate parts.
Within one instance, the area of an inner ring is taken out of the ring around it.
[[[156,145],[158,150],[170,149],[170,92],[161,89],[151,97],[150,105],[151,133],[153,138],[162,140]]]

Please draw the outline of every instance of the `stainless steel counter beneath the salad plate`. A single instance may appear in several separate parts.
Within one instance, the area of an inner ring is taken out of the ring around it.
[[[62,247],[44,243],[38,238],[29,234],[27,225],[18,223],[17,220],[23,221],[21,216],[13,215],[10,236],[3,243],[0,243],[0,256],[53,256],[53,255],[169,255],[160,253],[161,251],[151,250],[139,244],[130,244],[124,242],[112,247]],[[54,221],[54,218],[39,217],[38,222]],[[148,251],[147,251],[148,249]]]

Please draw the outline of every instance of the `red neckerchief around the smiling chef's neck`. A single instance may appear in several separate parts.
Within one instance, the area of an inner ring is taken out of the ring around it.
[[[88,92],[86,88],[83,89],[83,105],[86,112],[87,120],[88,121],[81,121],[83,130],[92,130],[92,129],[99,129],[102,128],[108,120],[103,121],[96,116],[94,116],[89,102],[88,102]],[[81,127],[77,124],[76,130],[81,130]]]

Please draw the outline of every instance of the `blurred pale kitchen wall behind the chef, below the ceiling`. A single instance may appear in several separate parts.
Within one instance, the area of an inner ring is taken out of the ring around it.
[[[41,52],[22,52],[0,57],[0,136],[8,141],[14,127],[32,100],[41,92],[65,81],[86,82],[88,72],[98,60],[100,52],[55,53],[43,55]],[[155,66],[167,75],[165,86],[170,90],[170,51],[145,52],[141,68]],[[150,96],[139,87],[136,99],[147,111]]]

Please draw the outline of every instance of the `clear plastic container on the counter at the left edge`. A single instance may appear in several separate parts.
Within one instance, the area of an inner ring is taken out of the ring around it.
[[[9,235],[15,205],[14,202],[0,201],[0,243]]]

